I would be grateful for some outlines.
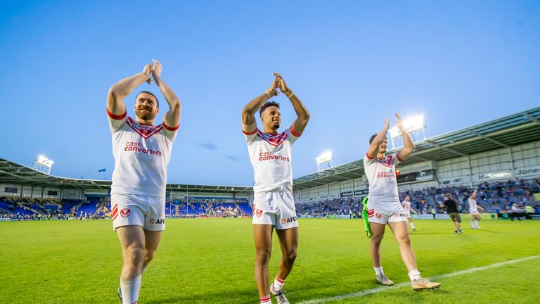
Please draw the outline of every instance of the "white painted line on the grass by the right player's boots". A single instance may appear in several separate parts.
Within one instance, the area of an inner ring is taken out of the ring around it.
[[[501,266],[513,264],[513,263],[516,263],[516,262],[523,262],[523,261],[526,261],[526,260],[532,260],[532,259],[535,259],[535,258],[540,258],[540,255],[531,255],[531,256],[529,256],[527,258],[520,258],[518,260],[507,260],[507,261],[504,261],[504,262],[496,262],[495,264],[486,265],[486,266],[482,266],[482,267],[470,268],[468,270],[460,270],[458,272],[451,272],[449,274],[440,274],[438,276],[430,277],[428,279],[435,280],[435,279],[443,279],[443,278],[447,278],[447,277],[454,277],[454,276],[457,276],[457,275],[460,275],[460,274],[468,274],[468,273],[471,273],[471,272],[477,272],[477,271],[481,271],[481,270],[489,270],[491,268],[501,267]],[[345,299],[345,298],[358,298],[358,297],[361,297],[361,296],[366,296],[366,295],[373,294],[373,293],[378,293],[378,292],[381,292],[381,291],[387,291],[387,290],[390,290],[390,289],[398,289],[398,288],[405,287],[405,286],[411,286],[411,282],[403,282],[403,283],[399,283],[399,284],[394,284],[392,286],[380,286],[380,287],[377,287],[377,288],[374,288],[374,289],[368,289],[368,290],[359,291],[359,292],[356,292],[356,293],[347,293],[347,294],[344,294],[344,295],[333,296],[333,297],[329,297],[329,298],[317,298],[317,299],[313,299],[313,300],[304,300],[304,301],[302,301],[302,302],[300,302],[298,304],[319,304],[319,303],[327,303],[327,302],[331,302],[331,301],[335,301],[335,300],[342,300],[342,299]]]

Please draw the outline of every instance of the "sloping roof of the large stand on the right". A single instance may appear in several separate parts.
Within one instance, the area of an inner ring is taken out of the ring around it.
[[[540,140],[540,107],[417,141],[405,165],[426,160],[446,160]],[[399,148],[392,151],[398,151]],[[392,152],[390,151],[390,152]],[[295,190],[364,175],[363,160],[354,160],[294,180]]]

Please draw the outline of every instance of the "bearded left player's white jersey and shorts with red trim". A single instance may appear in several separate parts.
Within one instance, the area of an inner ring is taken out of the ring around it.
[[[110,199],[113,228],[139,225],[165,230],[167,164],[179,126],[143,125],[107,110],[115,170]]]

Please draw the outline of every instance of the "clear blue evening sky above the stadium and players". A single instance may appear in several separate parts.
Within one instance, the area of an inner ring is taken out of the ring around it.
[[[0,58],[0,157],[110,179],[108,88],[156,58],[182,102],[169,182],[250,186],[240,110],[274,71],[311,112],[294,177],[361,158],[394,112],[436,136],[540,106],[540,2],[2,1]]]

